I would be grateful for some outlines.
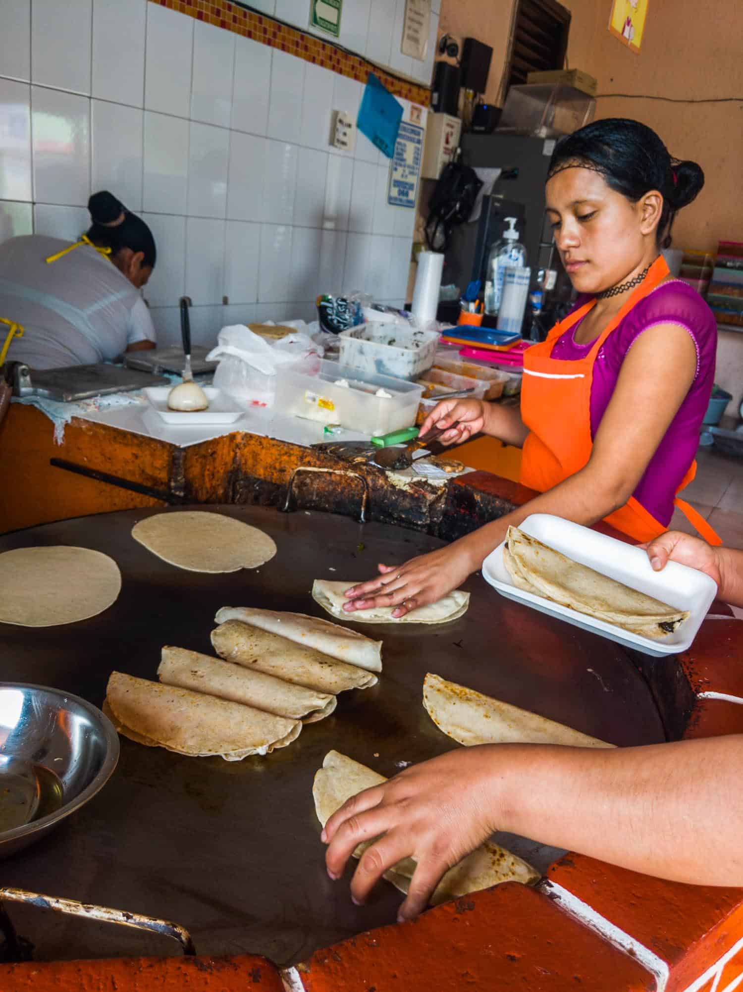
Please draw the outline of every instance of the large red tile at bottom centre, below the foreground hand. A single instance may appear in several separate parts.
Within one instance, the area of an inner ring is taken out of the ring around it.
[[[319,950],[300,972],[307,992],[656,988],[637,961],[516,882]]]

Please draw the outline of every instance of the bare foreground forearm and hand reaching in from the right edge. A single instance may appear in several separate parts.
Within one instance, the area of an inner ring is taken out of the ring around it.
[[[417,917],[443,873],[496,830],[698,885],[743,886],[743,735],[648,747],[486,744],[406,769],[325,824],[328,874],[357,844],[363,903],[404,857],[418,869],[399,919]],[[445,788],[443,788],[445,786]]]

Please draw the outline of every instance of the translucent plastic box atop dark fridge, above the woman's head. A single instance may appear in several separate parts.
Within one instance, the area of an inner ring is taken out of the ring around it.
[[[558,138],[593,120],[596,101],[572,86],[525,83],[511,86],[497,132]]]

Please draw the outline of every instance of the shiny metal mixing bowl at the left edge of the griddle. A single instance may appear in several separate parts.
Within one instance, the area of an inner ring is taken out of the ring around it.
[[[45,685],[0,682],[0,858],[84,806],[118,760],[118,734],[89,702]]]

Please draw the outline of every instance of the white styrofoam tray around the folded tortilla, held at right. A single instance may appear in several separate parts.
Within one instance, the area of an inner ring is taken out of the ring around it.
[[[688,610],[688,619],[673,634],[669,634],[663,641],[651,641],[585,613],[560,606],[551,599],[517,588],[503,561],[505,542],[483,561],[483,577],[501,595],[516,599],[576,627],[592,630],[617,644],[642,651],[646,655],[661,658],[686,651],[717,595],[716,583],[704,572],[688,568],[677,561],[669,561],[663,571],[654,571],[644,549],[626,545],[561,517],[535,513],[527,517],[520,529],[565,558],[588,565],[594,571],[608,575],[609,578],[623,582],[676,609]]]

